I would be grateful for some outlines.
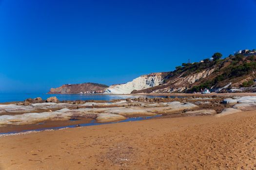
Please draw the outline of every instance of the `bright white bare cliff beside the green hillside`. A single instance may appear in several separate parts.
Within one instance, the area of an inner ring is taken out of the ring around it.
[[[143,90],[161,84],[166,73],[151,73],[139,76],[131,82],[121,85],[111,85],[105,93],[130,94],[133,90]]]

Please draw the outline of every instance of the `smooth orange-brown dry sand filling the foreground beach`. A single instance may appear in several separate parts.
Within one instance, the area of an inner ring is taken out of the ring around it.
[[[1,170],[256,169],[256,111],[0,137]]]

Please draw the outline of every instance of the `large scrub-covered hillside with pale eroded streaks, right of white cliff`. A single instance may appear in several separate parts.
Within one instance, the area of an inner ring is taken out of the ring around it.
[[[217,92],[230,89],[238,91],[240,87],[255,84],[256,52],[229,55],[224,59],[220,59],[221,56],[220,53],[215,53],[212,60],[183,63],[170,71],[161,85],[133,90],[132,93],[198,92],[204,88]]]

